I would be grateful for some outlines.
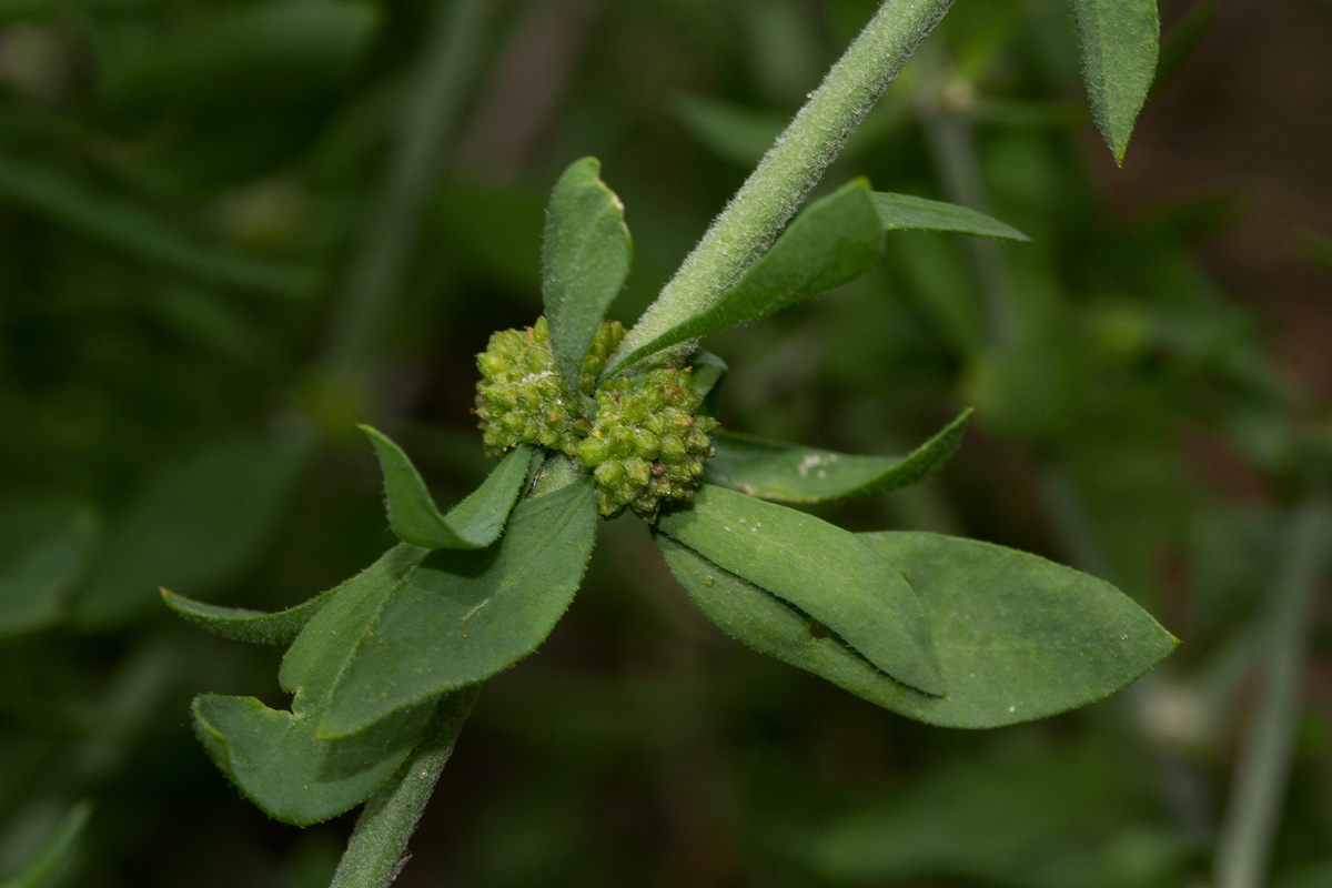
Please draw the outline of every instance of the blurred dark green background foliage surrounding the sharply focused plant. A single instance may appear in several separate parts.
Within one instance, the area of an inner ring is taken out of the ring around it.
[[[81,800],[43,884],[328,883],[352,815],[266,820],[189,728],[201,691],[285,704],[277,652],[157,587],[272,610],[368,564],[358,421],[468,491],[474,354],[541,310],[559,170],[598,156],[627,206],[631,322],[875,8],[0,0],[0,884]],[[975,406],[939,478],[819,514],[1071,563],[1179,651],[1075,714],[928,728],[722,636],[614,521],[488,683],[397,884],[1201,888],[1275,712],[1269,884],[1332,885],[1332,610],[1272,630],[1332,474],[1332,5],[1162,13],[1116,169],[1064,0],[958,0],[826,186],[1034,244],[894,234],[709,347],[735,430],[903,453]]]

